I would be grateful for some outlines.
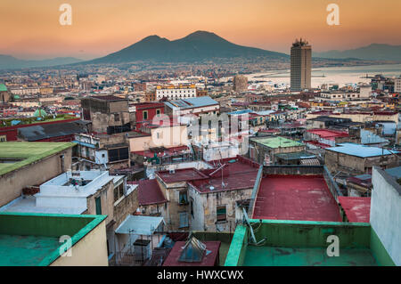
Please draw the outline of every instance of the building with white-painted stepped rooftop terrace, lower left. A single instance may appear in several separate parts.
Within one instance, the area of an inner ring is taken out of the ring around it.
[[[51,213],[61,215],[105,215],[107,249],[110,256],[125,247],[115,230],[138,208],[137,185],[127,184],[124,175],[106,171],[75,171],[42,183],[37,191],[24,191],[0,208],[2,212]]]

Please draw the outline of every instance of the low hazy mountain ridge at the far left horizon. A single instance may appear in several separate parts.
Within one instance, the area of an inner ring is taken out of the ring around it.
[[[57,65],[66,65],[80,62],[81,60],[73,57],[57,57],[41,61],[26,61],[20,60],[10,55],[0,54],[0,69],[21,69],[34,67],[50,67]]]

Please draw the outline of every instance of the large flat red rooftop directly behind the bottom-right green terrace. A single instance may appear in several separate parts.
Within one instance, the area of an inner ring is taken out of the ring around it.
[[[253,219],[341,222],[340,208],[322,174],[269,174],[261,183]]]

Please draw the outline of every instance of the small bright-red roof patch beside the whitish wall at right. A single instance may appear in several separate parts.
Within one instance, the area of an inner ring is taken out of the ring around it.
[[[369,223],[371,215],[371,198],[339,196],[349,222]]]

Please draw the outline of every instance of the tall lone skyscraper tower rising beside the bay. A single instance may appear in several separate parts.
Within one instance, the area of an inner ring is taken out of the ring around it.
[[[291,47],[291,91],[311,88],[312,46],[302,38]]]

